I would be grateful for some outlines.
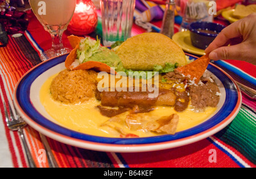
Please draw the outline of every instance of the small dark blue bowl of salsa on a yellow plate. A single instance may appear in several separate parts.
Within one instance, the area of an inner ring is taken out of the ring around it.
[[[212,22],[193,22],[189,25],[191,42],[194,47],[206,49],[225,26]]]

